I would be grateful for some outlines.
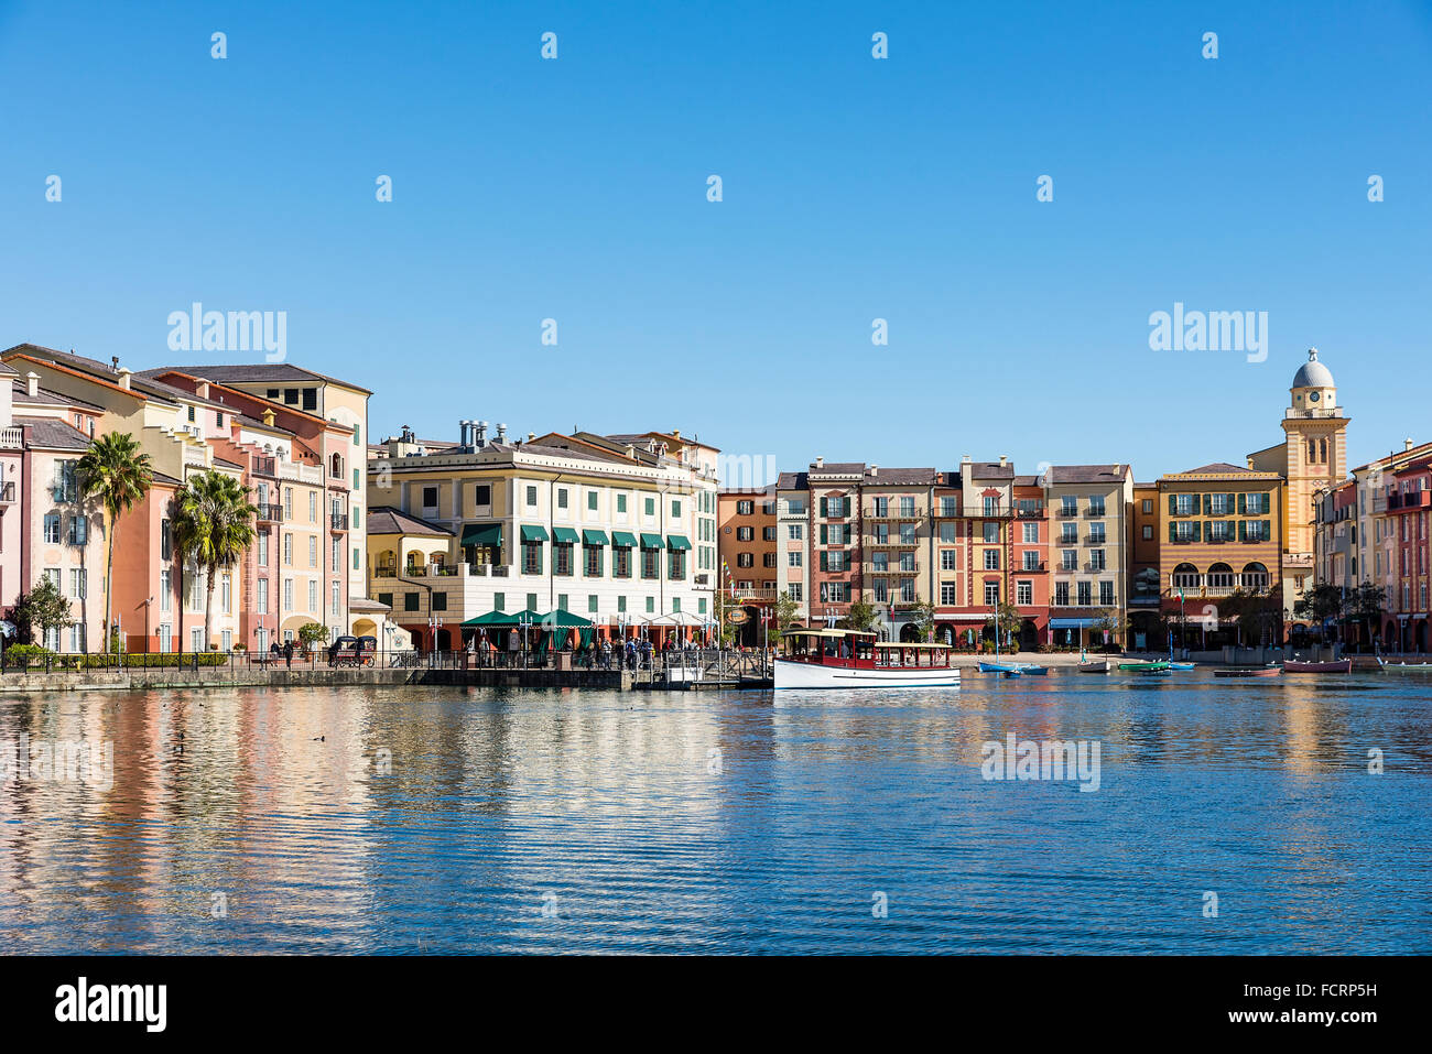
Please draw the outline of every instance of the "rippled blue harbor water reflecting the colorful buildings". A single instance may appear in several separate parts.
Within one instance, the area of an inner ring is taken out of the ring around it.
[[[11,696],[0,745],[110,740],[115,769],[109,789],[0,785],[0,941],[1428,954],[1429,695],[1199,672],[779,696]],[[981,745],[1011,732],[1097,740],[1098,790],[984,779]]]

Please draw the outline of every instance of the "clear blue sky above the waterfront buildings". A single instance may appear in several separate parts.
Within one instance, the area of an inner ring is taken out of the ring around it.
[[[0,0],[0,347],[189,358],[200,301],[377,437],[1151,478],[1277,441],[1316,345],[1356,464],[1432,438],[1429,89],[1429,3]],[[1150,351],[1176,301],[1267,361]]]

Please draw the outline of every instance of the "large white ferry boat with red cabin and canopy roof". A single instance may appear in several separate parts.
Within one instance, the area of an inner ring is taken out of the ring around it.
[[[776,659],[776,690],[835,687],[959,687],[945,644],[875,643],[856,630],[790,630]]]

